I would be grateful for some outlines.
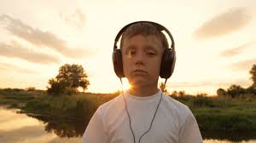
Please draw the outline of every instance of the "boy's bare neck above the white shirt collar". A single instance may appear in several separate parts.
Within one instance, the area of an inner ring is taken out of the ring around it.
[[[151,96],[153,94],[156,94],[157,92],[159,92],[159,89],[157,87],[132,87],[128,90],[129,94],[133,94],[135,96],[140,97]]]

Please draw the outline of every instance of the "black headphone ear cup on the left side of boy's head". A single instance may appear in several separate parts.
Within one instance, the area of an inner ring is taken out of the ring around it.
[[[125,77],[121,49],[113,50],[112,60],[113,60],[113,70],[115,74],[119,78]]]

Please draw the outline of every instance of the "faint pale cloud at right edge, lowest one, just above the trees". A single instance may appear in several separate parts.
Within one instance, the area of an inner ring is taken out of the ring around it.
[[[256,58],[251,60],[243,60],[236,62],[231,65],[230,68],[236,71],[248,71],[253,67],[253,64],[256,64]]]

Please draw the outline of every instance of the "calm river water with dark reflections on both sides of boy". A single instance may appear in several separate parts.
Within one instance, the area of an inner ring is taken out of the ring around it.
[[[86,123],[17,113],[0,106],[0,142],[80,143]],[[256,143],[253,134],[202,133],[205,143]],[[227,138],[228,137],[228,138]],[[252,140],[253,139],[253,140]],[[232,141],[230,141],[232,140]]]

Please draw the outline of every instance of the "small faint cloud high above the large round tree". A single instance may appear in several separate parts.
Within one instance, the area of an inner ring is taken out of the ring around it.
[[[69,26],[75,26],[78,29],[85,26],[85,15],[81,9],[76,9],[73,14],[60,14],[60,16],[61,20],[64,20]]]

